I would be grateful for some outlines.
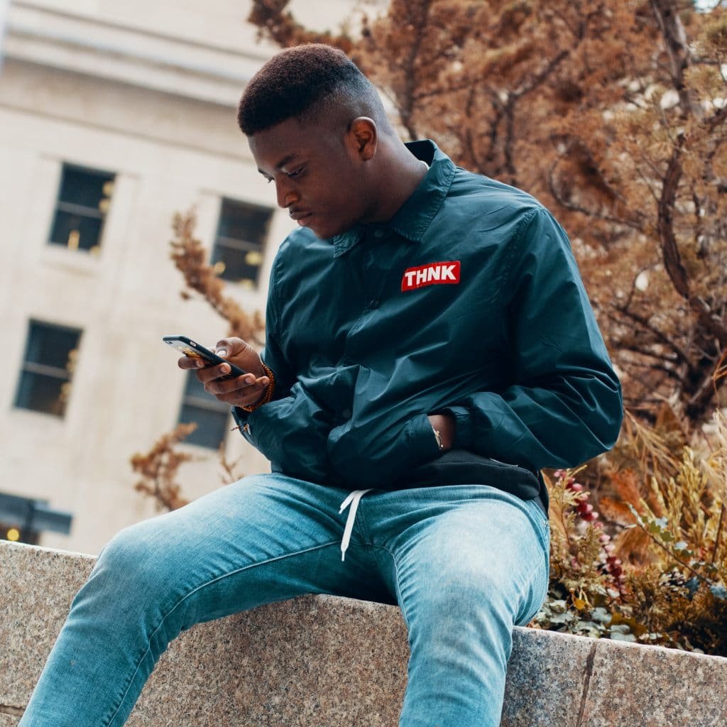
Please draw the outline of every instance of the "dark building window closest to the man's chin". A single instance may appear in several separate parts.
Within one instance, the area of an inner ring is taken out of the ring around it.
[[[262,249],[273,211],[233,199],[223,199],[212,264],[228,281],[254,288],[262,265]]]

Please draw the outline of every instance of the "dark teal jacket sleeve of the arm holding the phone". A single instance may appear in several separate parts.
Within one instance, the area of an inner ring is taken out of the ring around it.
[[[234,406],[233,418],[244,438],[270,460],[273,472],[325,481],[329,475],[326,441],[333,426],[332,414],[308,395],[281,346],[275,273],[273,265],[265,313],[265,349],[261,354],[275,374],[273,399],[251,412]]]

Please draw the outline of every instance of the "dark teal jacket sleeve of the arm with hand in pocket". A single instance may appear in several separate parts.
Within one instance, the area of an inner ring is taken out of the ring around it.
[[[501,300],[512,383],[439,411],[455,417],[457,449],[535,470],[573,467],[614,445],[621,386],[558,222],[535,209],[510,246]]]

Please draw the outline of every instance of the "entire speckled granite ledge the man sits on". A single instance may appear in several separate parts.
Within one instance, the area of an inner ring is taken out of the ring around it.
[[[0,727],[15,727],[95,559],[0,542]],[[398,608],[306,596],[198,624],[162,656],[129,726],[393,727]],[[515,630],[502,727],[727,724],[727,659]]]

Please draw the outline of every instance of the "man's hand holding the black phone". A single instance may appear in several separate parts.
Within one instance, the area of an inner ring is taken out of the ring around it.
[[[230,406],[253,406],[260,401],[270,379],[262,368],[257,351],[241,338],[223,338],[217,341],[214,352],[248,373],[234,379],[224,379],[230,373],[230,366],[212,366],[201,358],[191,356],[182,356],[177,365],[180,369],[196,369],[197,378],[204,384],[204,390]]]

